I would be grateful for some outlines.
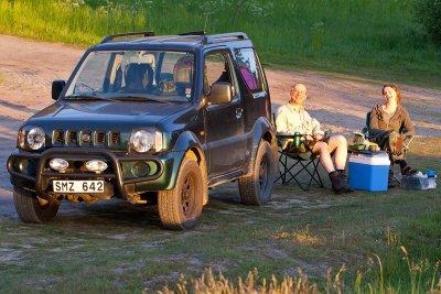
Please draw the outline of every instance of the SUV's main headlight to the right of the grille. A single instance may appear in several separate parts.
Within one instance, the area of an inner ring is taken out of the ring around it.
[[[130,135],[130,146],[139,153],[162,150],[162,133],[154,129],[136,130]]]

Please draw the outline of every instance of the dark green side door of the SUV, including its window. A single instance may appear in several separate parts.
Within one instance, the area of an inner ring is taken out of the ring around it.
[[[244,166],[248,152],[240,91],[232,69],[229,51],[205,53],[204,95],[208,97],[212,85],[218,81],[229,83],[232,86],[229,102],[207,105],[204,112],[211,176],[239,170]]]

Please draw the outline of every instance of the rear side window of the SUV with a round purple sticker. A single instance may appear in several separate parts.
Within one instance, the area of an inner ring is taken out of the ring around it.
[[[257,63],[255,51],[252,48],[238,48],[235,50],[235,57],[240,76],[244,78],[248,88],[252,92],[262,91],[262,74],[260,65]]]

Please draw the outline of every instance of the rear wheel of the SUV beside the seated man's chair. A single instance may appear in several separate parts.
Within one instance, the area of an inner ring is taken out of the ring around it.
[[[256,159],[251,163],[251,174],[239,178],[240,199],[248,205],[265,205],[269,202],[273,186],[273,170],[276,166],[271,145],[261,141]]]

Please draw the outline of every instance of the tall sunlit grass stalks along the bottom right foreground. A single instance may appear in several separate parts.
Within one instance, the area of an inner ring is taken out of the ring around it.
[[[308,228],[303,232],[306,230],[306,235],[309,235]],[[437,229],[431,230],[429,235],[433,235],[433,232],[437,233]],[[387,228],[385,235],[384,241],[388,250],[384,260],[379,255],[373,254],[364,269],[357,269],[354,280],[345,276],[346,266],[344,264],[335,271],[329,268],[323,281],[319,283],[311,281],[300,268],[298,268],[295,276],[284,275],[281,279],[276,274],[266,277],[257,269],[249,271],[246,279],[241,276],[228,279],[222,271],[215,274],[213,269],[208,268],[198,277],[187,279],[181,274],[181,279],[175,285],[166,285],[159,293],[441,293],[441,261],[432,259],[433,255],[430,259],[418,257],[418,254],[411,257],[406,247],[401,244],[401,237],[398,233]],[[278,232],[276,238],[298,239],[297,233],[290,236],[287,232]],[[432,241],[438,242],[438,240]],[[413,250],[422,247],[421,243],[412,243]],[[424,253],[427,251],[429,250],[426,250]]]

